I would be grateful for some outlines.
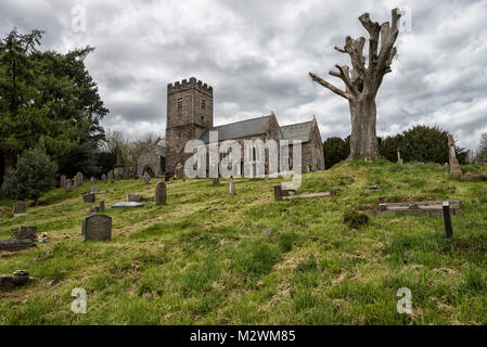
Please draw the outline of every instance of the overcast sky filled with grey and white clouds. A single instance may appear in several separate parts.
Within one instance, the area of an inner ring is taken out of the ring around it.
[[[132,139],[165,134],[167,83],[191,76],[214,87],[215,125],[316,115],[325,139],[349,134],[348,103],[308,72],[343,88],[328,72],[349,61],[333,47],[368,38],[363,12],[383,23],[396,7],[407,23],[379,92],[379,134],[437,125],[476,149],[487,132],[487,0],[0,0],[0,34],[39,28],[41,49],[95,47],[86,63],[111,111],[103,124]]]

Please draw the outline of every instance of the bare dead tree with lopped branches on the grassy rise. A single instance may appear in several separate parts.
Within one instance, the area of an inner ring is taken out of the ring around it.
[[[323,78],[309,73],[311,79],[334,93],[348,100],[350,107],[351,136],[350,155],[348,159],[379,157],[379,144],[375,123],[375,95],[381,87],[384,75],[390,73],[390,63],[396,54],[397,35],[399,34],[399,9],[393,11],[393,22],[380,25],[370,20],[369,13],[363,13],[359,21],[369,33],[369,59],[366,67],[363,44],[366,38],[353,39],[347,36],[344,48],[335,50],[350,56],[351,68],[347,65],[335,65],[338,72],[331,70],[330,75],[341,78],[345,83],[345,91],[329,83]],[[381,44],[379,44],[381,39]]]

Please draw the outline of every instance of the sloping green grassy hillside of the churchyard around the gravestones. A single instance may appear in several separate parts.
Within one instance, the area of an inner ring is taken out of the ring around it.
[[[475,167],[465,167],[473,170]],[[0,254],[0,273],[26,269],[38,282],[0,293],[1,324],[487,324],[487,183],[460,182],[435,164],[343,163],[304,175],[299,192],[338,188],[328,198],[275,202],[280,180],[171,181],[168,205],[152,203],[155,180],[98,183],[110,207],[141,193],[141,209],[110,209],[111,243],[82,243],[90,204],[81,193],[46,194],[21,224],[50,243]],[[379,184],[380,192],[366,187]],[[298,193],[299,193],[298,192]],[[350,229],[349,210],[380,202],[460,200],[453,237],[443,218],[371,217]],[[8,204],[2,202],[0,205]],[[50,286],[51,280],[57,283]],[[71,311],[82,287],[88,312]],[[399,314],[396,292],[412,293]]]

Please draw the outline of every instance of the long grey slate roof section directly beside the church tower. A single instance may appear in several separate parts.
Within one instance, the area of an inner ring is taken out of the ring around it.
[[[270,121],[270,117],[271,116],[264,116],[205,129],[200,136],[200,140],[208,143],[209,131],[218,131],[218,141],[262,134],[267,130],[267,125]]]

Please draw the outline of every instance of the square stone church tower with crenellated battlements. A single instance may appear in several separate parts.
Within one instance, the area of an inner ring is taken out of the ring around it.
[[[213,127],[213,87],[191,77],[167,85],[166,174],[174,175],[178,164],[192,154],[184,154],[188,141],[197,139]]]

